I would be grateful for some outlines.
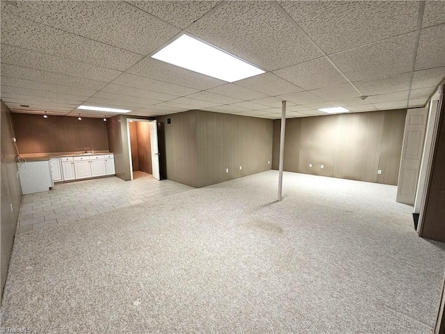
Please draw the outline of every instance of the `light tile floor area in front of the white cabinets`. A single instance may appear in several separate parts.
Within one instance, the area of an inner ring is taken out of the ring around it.
[[[133,179],[125,182],[118,177],[103,177],[62,183],[56,184],[49,191],[24,195],[17,233],[194,189],[170,180],[158,181],[143,172],[135,172]]]

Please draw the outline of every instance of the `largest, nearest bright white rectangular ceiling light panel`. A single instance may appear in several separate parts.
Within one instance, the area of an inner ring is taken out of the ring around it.
[[[229,82],[264,73],[258,67],[190,35],[181,35],[152,58]]]

